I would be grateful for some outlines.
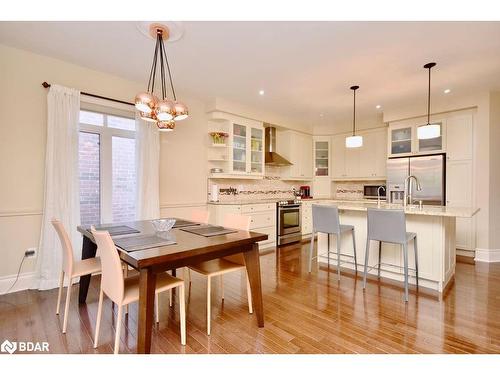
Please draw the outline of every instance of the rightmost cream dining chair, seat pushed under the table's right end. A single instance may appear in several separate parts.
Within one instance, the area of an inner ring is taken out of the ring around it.
[[[238,229],[238,230],[250,230],[250,216],[227,214],[224,217],[224,227]],[[221,286],[221,297],[224,299],[224,281],[223,275],[236,272],[245,271],[246,281],[247,281],[247,299],[248,299],[248,311],[250,314],[253,313],[252,307],[252,292],[250,290],[250,282],[248,280],[248,275],[246,273],[245,259],[243,254],[230,255],[223,258],[212,259],[207,262],[202,262],[195,265],[188,266],[188,272],[186,274],[186,281],[188,285],[191,284],[191,277],[189,270],[193,270],[203,276],[207,277],[207,335],[210,335],[210,306],[211,306],[211,289],[212,289],[212,278],[215,276],[220,276],[220,286]]]

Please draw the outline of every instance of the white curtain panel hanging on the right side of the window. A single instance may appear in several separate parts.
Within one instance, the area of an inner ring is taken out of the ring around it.
[[[160,133],[136,117],[137,220],[160,217]]]

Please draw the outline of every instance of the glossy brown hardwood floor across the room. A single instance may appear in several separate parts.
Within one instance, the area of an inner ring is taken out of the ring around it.
[[[265,327],[248,314],[243,275],[224,277],[225,300],[213,283],[212,334],[206,335],[205,279],[191,273],[187,290],[187,345],[180,345],[177,296],[160,297],[153,353],[500,353],[500,264],[458,263],[455,283],[442,301],[335,268],[307,273],[307,244],[261,256]],[[217,281],[217,280],[215,280]],[[0,340],[48,341],[51,353],[112,353],[116,309],[105,300],[99,348],[92,347],[99,279],[88,303],[73,286],[68,333],[55,315],[57,290],[0,296]],[[175,294],[174,294],[175,295]],[[137,305],[121,324],[120,352],[135,351]]]

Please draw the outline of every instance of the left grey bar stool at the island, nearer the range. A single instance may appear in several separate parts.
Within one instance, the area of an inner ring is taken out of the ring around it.
[[[316,233],[326,233],[328,235],[328,265],[330,265],[330,235],[334,234],[337,237],[337,275],[340,280],[340,264],[347,263],[341,262],[340,257],[346,256],[349,258],[354,258],[354,266],[356,268],[356,273],[358,272],[358,260],[356,258],[356,239],[354,236],[354,226],[340,224],[339,220],[339,209],[337,206],[326,206],[326,205],[312,205],[313,214],[313,229],[311,234],[311,247],[309,249],[309,273],[312,268],[313,260],[313,250],[314,250],[314,235]],[[349,254],[342,254],[340,252],[340,236],[342,233],[351,232],[352,234],[352,247],[354,251],[354,256]],[[318,258],[317,254],[314,258]],[[352,264],[352,263],[351,263]]]

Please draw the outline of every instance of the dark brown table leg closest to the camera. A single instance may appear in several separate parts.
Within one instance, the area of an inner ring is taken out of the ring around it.
[[[137,353],[151,352],[153,331],[156,274],[150,268],[140,270],[139,276],[139,319],[137,333]]]

